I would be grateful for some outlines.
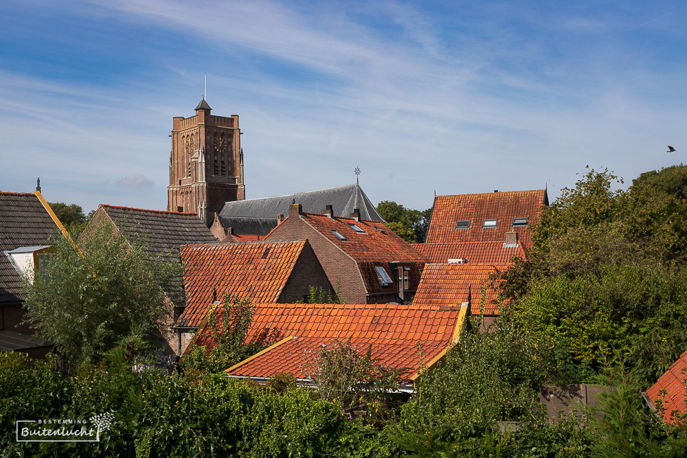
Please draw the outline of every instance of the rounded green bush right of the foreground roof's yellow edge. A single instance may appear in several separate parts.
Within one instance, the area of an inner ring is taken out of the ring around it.
[[[416,389],[446,422],[521,420],[535,410],[547,365],[547,355],[507,323],[483,332],[464,328],[443,365],[422,374]]]

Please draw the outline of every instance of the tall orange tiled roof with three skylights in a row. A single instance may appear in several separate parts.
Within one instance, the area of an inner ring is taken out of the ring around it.
[[[548,205],[546,190],[436,196],[426,242],[504,242],[506,232],[515,231],[530,247],[530,227],[539,222],[543,205]],[[527,225],[514,227],[514,218],[528,218]],[[482,227],[484,220],[497,225]],[[458,221],[469,221],[469,228],[457,229]]]

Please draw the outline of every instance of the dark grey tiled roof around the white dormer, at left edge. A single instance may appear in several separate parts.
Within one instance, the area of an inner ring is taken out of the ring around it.
[[[0,251],[49,245],[58,227],[34,194],[0,192]],[[16,304],[21,298],[21,274],[0,253],[0,304]]]

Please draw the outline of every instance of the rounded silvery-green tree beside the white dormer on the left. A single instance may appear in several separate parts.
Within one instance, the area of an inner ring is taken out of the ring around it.
[[[181,290],[181,264],[152,259],[144,246],[103,222],[77,251],[61,234],[56,254],[26,283],[27,321],[71,363],[94,360],[132,329],[168,332],[168,299]]]

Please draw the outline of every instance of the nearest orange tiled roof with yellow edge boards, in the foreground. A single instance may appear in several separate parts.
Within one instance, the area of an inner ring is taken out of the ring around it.
[[[420,365],[436,360],[458,338],[460,312],[460,308],[394,304],[260,304],[247,340],[268,330],[282,340],[227,372],[247,377],[291,372],[297,378],[308,378],[307,367],[320,345],[350,339],[361,352],[372,344],[373,358],[406,369],[405,376],[412,378]],[[200,334],[197,345],[212,346],[202,331]]]

